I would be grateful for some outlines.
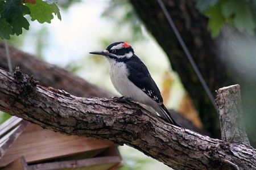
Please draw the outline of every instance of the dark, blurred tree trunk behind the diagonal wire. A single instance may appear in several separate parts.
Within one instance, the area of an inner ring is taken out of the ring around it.
[[[179,74],[181,82],[199,111],[205,129],[214,137],[220,137],[218,114],[184,55],[158,2],[155,0],[130,0],[130,2],[147,30],[152,33],[152,36],[166,52],[173,69]],[[212,94],[214,94],[214,90],[230,84],[232,80],[228,77],[225,66],[217,57],[216,46],[208,32],[208,19],[196,10],[195,1],[166,0],[163,2]]]

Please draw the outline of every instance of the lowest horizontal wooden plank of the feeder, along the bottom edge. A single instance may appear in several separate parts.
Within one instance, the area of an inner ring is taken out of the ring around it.
[[[119,164],[121,158],[119,156],[105,156],[97,158],[89,158],[82,160],[71,160],[64,162],[53,162],[44,164],[29,165],[31,170],[44,169],[86,169],[86,170],[107,170],[115,164]]]

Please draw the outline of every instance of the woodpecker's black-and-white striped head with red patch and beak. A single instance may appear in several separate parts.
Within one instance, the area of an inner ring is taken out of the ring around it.
[[[133,57],[133,48],[127,42],[114,42],[110,44],[105,50],[98,52],[90,52],[90,54],[96,54],[106,56],[115,60],[129,59]]]

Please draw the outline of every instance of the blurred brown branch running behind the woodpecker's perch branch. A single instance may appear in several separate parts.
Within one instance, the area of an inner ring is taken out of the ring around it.
[[[13,46],[9,46],[11,62],[14,68],[19,66],[22,73],[33,75],[36,80],[43,86],[63,89],[75,96],[81,97],[110,97],[114,96],[108,91],[94,86],[79,76],[72,74],[58,66],[51,65],[42,59],[24,53]],[[8,70],[5,46],[0,42],[0,67]],[[187,120],[181,114],[174,110],[169,110],[172,116],[182,126],[187,129],[195,130],[201,134],[209,135],[203,129],[197,128],[191,121]]]

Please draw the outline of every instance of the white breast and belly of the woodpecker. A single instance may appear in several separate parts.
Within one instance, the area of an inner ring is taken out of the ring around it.
[[[158,104],[148,97],[140,88],[135,86],[133,82],[128,79],[129,73],[125,63],[116,62],[114,59],[109,59],[110,62],[110,79],[115,89],[123,96],[130,97],[139,103],[150,105],[155,108]]]

